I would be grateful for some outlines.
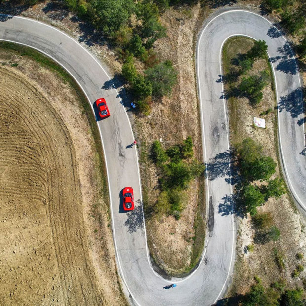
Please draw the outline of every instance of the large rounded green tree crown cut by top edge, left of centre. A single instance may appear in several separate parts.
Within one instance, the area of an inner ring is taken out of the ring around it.
[[[127,23],[133,10],[133,0],[93,0],[88,8],[92,24],[109,36]]]

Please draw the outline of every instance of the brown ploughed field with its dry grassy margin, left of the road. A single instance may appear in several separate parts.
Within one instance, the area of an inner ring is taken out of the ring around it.
[[[0,305],[126,305],[76,92],[19,53],[0,62]]]

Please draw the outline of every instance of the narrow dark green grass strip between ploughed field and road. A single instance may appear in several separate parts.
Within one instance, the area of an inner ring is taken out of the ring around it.
[[[62,68],[60,65],[55,63],[52,59],[48,58],[44,54],[31,49],[26,46],[22,46],[19,44],[15,44],[12,42],[7,42],[7,41],[0,41],[0,48],[4,50],[10,50],[18,53],[20,56],[23,57],[29,57],[33,60],[35,60],[38,64],[40,64],[43,67],[46,67],[58,74],[58,76],[61,77],[62,81],[65,84],[69,84],[76,92],[78,96],[78,103],[84,110],[84,114],[86,115],[91,132],[94,137],[95,141],[95,146],[96,150],[99,153],[97,156],[97,161],[99,165],[99,172],[101,174],[101,180],[102,180],[102,187],[100,190],[100,194],[103,196],[103,198],[108,202],[109,198],[109,193],[108,193],[108,185],[107,185],[107,174],[106,174],[106,167],[104,163],[104,155],[103,155],[103,149],[102,149],[102,143],[100,139],[100,133],[99,133],[99,128],[96,123],[95,117],[93,115],[93,111],[88,103],[88,100],[86,96],[84,95],[83,91],[81,88],[78,86],[78,84],[75,82],[75,80],[72,78],[72,76],[69,75],[69,73]],[[109,209],[108,209],[109,211]]]

